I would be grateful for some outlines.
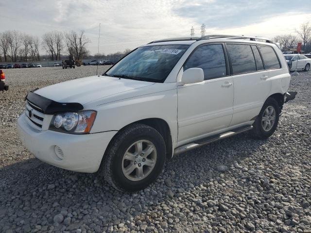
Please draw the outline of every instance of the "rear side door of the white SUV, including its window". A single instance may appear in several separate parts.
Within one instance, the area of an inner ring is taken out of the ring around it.
[[[271,89],[256,45],[227,43],[234,83],[233,117],[230,126],[251,121],[259,114]]]

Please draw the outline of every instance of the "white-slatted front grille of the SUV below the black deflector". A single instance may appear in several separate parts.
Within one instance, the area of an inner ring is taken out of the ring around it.
[[[28,123],[37,130],[42,130],[44,122],[43,110],[34,103],[26,101],[25,115],[28,117]]]

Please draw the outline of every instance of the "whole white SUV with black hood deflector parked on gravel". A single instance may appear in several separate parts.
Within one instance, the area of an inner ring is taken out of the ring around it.
[[[30,92],[18,118],[40,160],[97,172],[121,191],[155,181],[166,159],[247,130],[276,130],[290,74],[272,41],[210,35],[154,41],[102,76]],[[287,93],[287,94],[286,94]]]

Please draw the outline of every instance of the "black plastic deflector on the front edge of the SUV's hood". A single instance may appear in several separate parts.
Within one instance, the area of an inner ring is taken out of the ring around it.
[[[49,115],[59,112],[75,112],[83,109],[83,105],[81,103],[60,103],[43,96],[39,96],[33,91],[27,94],[26,100],[40,107],[44,114]]]

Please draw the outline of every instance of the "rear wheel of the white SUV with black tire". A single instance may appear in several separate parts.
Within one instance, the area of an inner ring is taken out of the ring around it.
[[[267,109],[268,109],[269,113],[270,113],[271,109],[273,109],[274,114],[272,114],[272,116],[269,116],[269,114],[268,114],[268,116],[267,116],[266,115]],[[279,105],[278,105],[277,101],[274,98],[268,98],[264,102],[264,104],[260,110],[260,113],[257,116],[257,118],[253,124],[253,127],[254,127],[253,128],[253,135],[259,139],[266,139],[266,138],[270,137],[276,131],[276,127],[277,127],[278,119],[279,119],[279,114],[280,114],[280,110],[279,110]],[[266,124],[264,121],[264,118],[266,118],[268,121],[270,121],[271,125]],[[273,118],[274,118],[274,121],[273,121]],[[266,128],[264,126],[266,126]]]

